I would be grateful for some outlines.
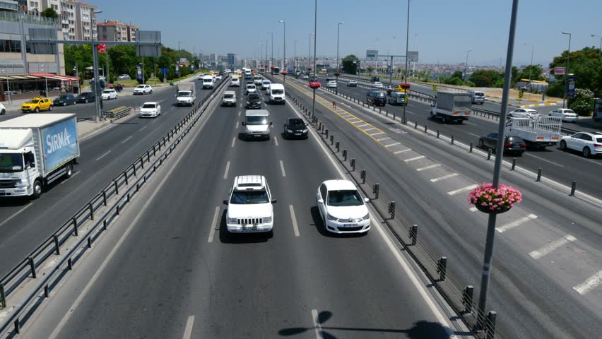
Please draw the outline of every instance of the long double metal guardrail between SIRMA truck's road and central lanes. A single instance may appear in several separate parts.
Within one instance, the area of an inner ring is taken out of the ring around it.
[[[170,131],[167,131],[159,141],[126,167],[121,174],[112,179],[110,184],[107,184],[102,191],[88,201],[56,232],[42,242],[40,246],[37,246],[27,258],[23,259],[0,279],[0,309],[11,308],[11,311],[0,323],[0,333],[4,334],[11,325],[14,326],[13,331],[16,334],[19,333],[21,317],[30,312],[30,309],[40,302],[40,298],[48,297],[50,286],[54,285],[64,275],[65,269],[71,270],[73,268],[74,260],[77,261],[81,254],[77,252],[82,251],[82,249],[85,251],[85,243],[87,242],[89,248],[100,234],[107,230],[107,225],[110,225],[122,208],[130,202],[131,198],[138,194],[140,188],[153,176],[156,169],[163,165],[164,160],[179,145],[184,136],[196,124],[196,121],[201,118],[207,108],[205,104],[212,100],[213,95],[227,83],[229,81],[222,81],[189,114],[173,126]],[[158,151],[161,152],[162,150],[163,153],[158,154]],[[152,160],[151,157],[153,157]],[[126,189],[120,191],[124,186],[126,186]],[[117,198],[117,201],[109,205],[108,201],[111,198]],[[104,210],[98,215],[97,212],[101,208],[104,208]],[[94,221],[94,224],[87,234],[80,234],[79,228],[88,220]],[[61,246],[73,237],[79,239],[76,244],[70,244],[68,252],[62,255],[62,259],[53,266],[50,272],[47,272],[43,277],[38,277],[36,269],[48,261],[49,258],[61,255]],[[32,290],[26,292],[23,299],[13,304],[7,302],[8,297],[16,292],[19,287],[22,287],[21,285],[38,278],[40,278],[39,283]]]

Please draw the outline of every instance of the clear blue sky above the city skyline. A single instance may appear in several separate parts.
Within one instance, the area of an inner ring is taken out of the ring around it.
[[[286,21],[286,54],[309,53],[309,34],[314,31],[313,0],[261,1],[124,1],[87,0],[98,6],[101,20],[133,23],[141,30],[160,30],[163,44],[192,52],[242,57],[259,53],[260,43],[271,40],[274,57],[282,56],[283,24]],[[406,0],[318,0],[317,54],[336,55],[336,23],[341,25],[339,54],[353,53],[365,57],[366,49],[379,54],[405,54]],[[511,0],[411,0],[409,49],[420,52],[420,62],[460,63],[469,54],[469,64],[500,63],[506,55]],[[514,64],[529,64],[534,44],[535,63],[548,66],[554,56],[567,49],[572,33],[571,50],[596,46],[602,35],[600,23],[602,1],[599,0],[522,0],[519,1]],[[415,37],[415,34],[418,36]],[[395,39],[393,37],[395,36]],[[312,47],[313,49],[313,47]]]

